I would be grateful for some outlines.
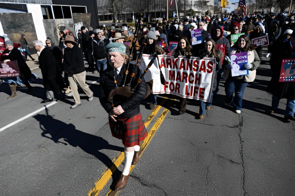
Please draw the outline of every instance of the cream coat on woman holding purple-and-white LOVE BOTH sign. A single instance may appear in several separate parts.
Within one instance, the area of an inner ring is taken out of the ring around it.
[[[229,50],[229,54],[235,54],[238,50],[234,47]],[[260,65],[260,59],[256,50],[248,51],[248,63],[252,65],[252,68],[249,69],[248,75],[234,76],[235,79],[244,79],[245,82],[253,82],[256,77],[256,69]],[[232,77],[231,69],[224,69],[223,78],[227,80],[229,77]]]

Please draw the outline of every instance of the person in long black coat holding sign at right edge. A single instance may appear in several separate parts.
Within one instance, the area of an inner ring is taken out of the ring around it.
[[[295,58],[295,33],[291,35],[290,40],[291,45],[290,42],[283,42],[273,50],[269,61],[270,70],[273,73],[266,92],[272,94],[271,108],[268,111],[273,113],[278,108],[280,99],[286,98],[285,119],[295,121],[295,82],[279,82],[282,60]],[[295,74],[294,65],[290,65],[289,68],[289,75],[292,74]],[[288,76],[287,72],[286,76]]]

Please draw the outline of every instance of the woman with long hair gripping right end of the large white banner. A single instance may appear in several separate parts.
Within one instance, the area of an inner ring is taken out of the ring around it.
[[[213,99],[213,91],[216,90],[216,86],[217,86],[217,73],[216,73],[216,71],[220,71],[222,69],[222,62],[221,62],[222,56],[223,56],[222,51],[219,49],[216,49],[216,43],[213,39],[207,39],[207,41],[205,42],[205,49],[200,50],[200,58],[201,59],[204,57],[215,58],[216,69],[215,69],[215,74],[214,74],[211,99],[209,102],[200,101],[199,119],[204,118],[205,108],[207,110],[209,110],[211,108],[212,99]]]

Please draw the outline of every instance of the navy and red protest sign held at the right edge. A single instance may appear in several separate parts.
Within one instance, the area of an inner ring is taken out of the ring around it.
[[[283,59],[279,82],[295,82],[295,59]]]

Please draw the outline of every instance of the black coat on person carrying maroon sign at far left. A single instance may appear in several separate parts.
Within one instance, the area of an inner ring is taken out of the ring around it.
[[[4,55],[8,53],[10,54]],[[6,59],[9,59],[10,61],[17,61],[17,64],[21,73],[21,77],[24,78],[25,80],[29,80],[29,78],[35,77],[31,73],[29,66],[25,62],[22,53],[17,48],[13,48],[11,51],[8,49],[5,49],[3,53],[1,54],[1,61],[4,61]]]

